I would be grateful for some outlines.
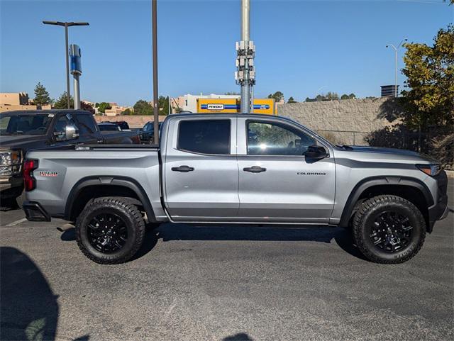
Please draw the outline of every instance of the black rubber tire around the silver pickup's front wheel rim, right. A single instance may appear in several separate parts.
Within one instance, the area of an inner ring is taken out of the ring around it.
[[[387,253],[380,250],[370,241],[368,226],[375,218],[385,211],[403,213],[411,223],[411,240],[402,250]],[[416,255],[426,237],[426,221],[421,211],[410,201],[399,196],[375,196],[362,203],[353,218],[353,240],[355,245],[367,259],[375,263],[397,264],[403,263]]]

